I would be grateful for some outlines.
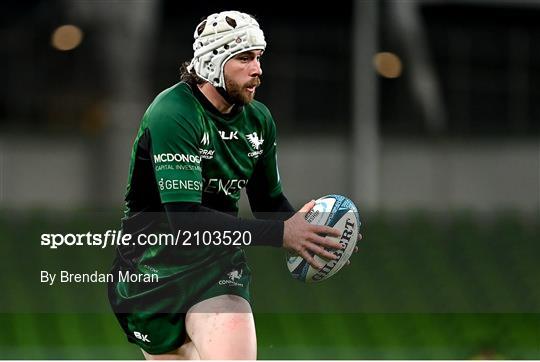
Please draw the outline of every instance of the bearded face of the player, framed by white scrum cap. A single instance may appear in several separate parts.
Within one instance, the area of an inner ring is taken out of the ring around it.
[[[262,50],[251,50],[232,57],[223,69],[227,93],[235,104],[248,104],[261,85]]]

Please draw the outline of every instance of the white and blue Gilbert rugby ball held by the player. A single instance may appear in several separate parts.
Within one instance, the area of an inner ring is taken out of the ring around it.
[[[313,268],[301,256],[287,255],[287,267],[294,279],[306,283],[320,282],[336,274],[351,257],[360,230],[360,217],[354,203],[341,195],[327,195],[315,200],[315,206],[305,217],[310,224],[327,225],[340,230],[341,236],[339,238],[330,236],[327,238],[345,245],[344,249],[339,250],[326,248],[338,256],[336,260],[328,260],[314,255],[315,260],[320,265],[324,265],[320,270]]]

